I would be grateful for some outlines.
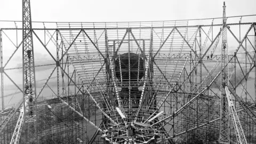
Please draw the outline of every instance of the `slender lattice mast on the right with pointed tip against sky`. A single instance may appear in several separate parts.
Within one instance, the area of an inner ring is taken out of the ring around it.
[[[226,5],[223,3],[222,46],[221,46],[221,102],[219,143],[230,143],[228,101],[225,86],[228,85],[228,43],[226,25]]]

